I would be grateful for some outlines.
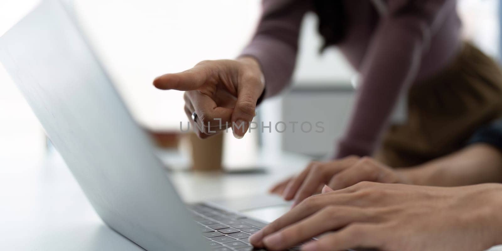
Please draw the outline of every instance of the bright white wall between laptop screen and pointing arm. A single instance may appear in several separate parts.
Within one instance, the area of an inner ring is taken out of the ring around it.
[[[137,120],[177,130],[182,93],[152,86],[156,76],[206,59],[236,57],[252,35],[259,0],[76,1],[78,19]]]

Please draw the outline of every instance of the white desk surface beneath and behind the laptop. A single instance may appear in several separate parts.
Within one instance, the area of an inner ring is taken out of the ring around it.
[[[287,154],[263,160],[274,166],[267,174],[175,172],[171,179],[187,202],[238,198],[266,192],[309,161]],[[144,250],[99,219],[57,154],[42,165],[18,160],[0,167],[0,250]]]

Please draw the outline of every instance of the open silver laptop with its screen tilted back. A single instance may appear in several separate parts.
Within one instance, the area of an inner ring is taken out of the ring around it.
[[[252,250],[265,222],[182,202],[70,13],[42,1],[0,38],[0,61],[101,219],[149,251]]]

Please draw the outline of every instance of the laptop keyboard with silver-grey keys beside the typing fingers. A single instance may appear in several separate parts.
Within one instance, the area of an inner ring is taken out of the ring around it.
[[[199,231],[213,251],[266,250],[254,249],[248,238],[267,224],[203,203],[192,205],[190,209]],[[288,250],[300,250],[300,246]]]

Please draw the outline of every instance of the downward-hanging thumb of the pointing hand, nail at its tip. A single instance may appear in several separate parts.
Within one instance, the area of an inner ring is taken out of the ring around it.
[[[233,136],[242,139],[249,128],[249,122],[253,120],[256,112],[256,103],[262,95],[263,86],[261,79],[241,82],[237,89],[237,101],[232,113]]]

